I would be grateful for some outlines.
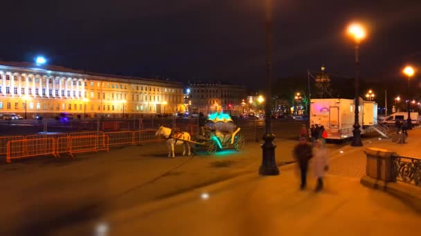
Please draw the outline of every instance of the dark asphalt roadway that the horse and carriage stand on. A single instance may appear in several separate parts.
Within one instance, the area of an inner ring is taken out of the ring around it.
[[[274,130],[279,166],[292,159],[299,124],[280,123]],[[246,133],[246,129],[244,129]],[[249,138],[250,139],[250,138]],[[341,145],[330,144],[330,149]],[[257,173],[262,150],[248,141],[244,150],[169,159],[165,144],[112,148],[109,153],[35,157],[0,165],[0,235],[55,235],[91,225],[102,215],[206,186],[244,173]],[[64,234],[65,235],[65,234]]]

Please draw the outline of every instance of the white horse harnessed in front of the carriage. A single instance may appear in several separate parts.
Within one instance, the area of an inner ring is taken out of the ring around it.
[[[190,144],[187,141],[190,141],[190,134],[188,132],[173,132],[172,129],[159,126],[158,131],[155,132],[156,136],[163,135],[165,137],[168,148],[168,157],[174,158],[174,145],[183,144],[183,156],[187,154],[190,156]],[[181,140],[182,139],[182,140]],[[186,140],[186,141],[183,141]]]

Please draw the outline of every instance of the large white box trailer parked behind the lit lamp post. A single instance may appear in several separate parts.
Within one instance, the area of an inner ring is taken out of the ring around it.
[[[355,122],[354,99],[311,99],[310,125],[323,126],[328,139],[352,137]],[[359,125],[361,134],[366,128],[377,125],[377,104],[374,101],[359,101]]]

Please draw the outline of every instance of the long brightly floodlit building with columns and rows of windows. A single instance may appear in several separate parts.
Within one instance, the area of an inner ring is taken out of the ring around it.
[[[0,114],[140,117],[183,110],[183,84],[0,61]]]

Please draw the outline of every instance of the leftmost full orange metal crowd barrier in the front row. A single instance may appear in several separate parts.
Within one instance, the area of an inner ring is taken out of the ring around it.
[[[55,155],[54,147],[54,138],[8,141],[6,162],[10,163],[10,159],[23,157]]]

